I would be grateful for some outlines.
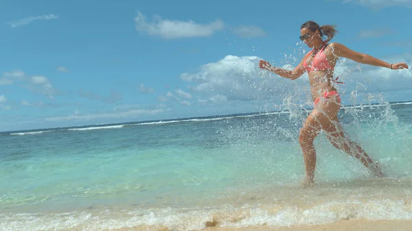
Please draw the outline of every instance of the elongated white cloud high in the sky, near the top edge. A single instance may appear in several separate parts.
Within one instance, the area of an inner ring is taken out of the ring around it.
[[[137,12],[135,17],[137,32],[146,33],[150,36],[160,36],[165,39],[195,38],[211,36],[224,27],[224,23],[220,20],[208,24],[198,24],[192,20],[161,19],[160,16],[154,18],[153,22],[148,22],[141,12]]]

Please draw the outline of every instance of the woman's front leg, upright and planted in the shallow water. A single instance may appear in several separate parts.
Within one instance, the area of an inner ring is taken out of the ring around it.
[[[339,96],[337,96],[339,97]],[[304,126],[299,133],[299,144],[304,154],[306,178],[304,185],[314,185],[314,169],[316,167],[316,151],[314,150],[313,141],[319,134],[320,130],[330,130],[334,127],[336,115],[341,105],[336,102],[336,96],[331,95],[328,99],[322,99],[309,114]]]

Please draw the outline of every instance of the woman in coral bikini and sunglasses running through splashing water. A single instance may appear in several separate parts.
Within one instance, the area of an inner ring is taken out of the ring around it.
[[[393,70],[409,69],[406,63],[389,64],[367,54],[352,51],[337,42],[328,43],[336,32],[332,25],[319,27],[317,23],[308,21],[301,25],[301,36],[299,38],[313,49],[306,54],[293,71],[271,66],[264,60],[260,60],[259,63],[261,69],[272,71],[290,80],[296,80],[305,70],[308,72],[314,109],[299,132],[299,144],[304,154],[306,167],[305,186],[314,185],[316,151],[314,150],[313,141],[321,130],[326,132],[330,143],[334,147],[361,160],[363,165],[373,171],[375,175],[382,175],[380,167],[377,164],[373,165],[373,161],[362,147],[345,136],[339,125],[338,112],[341,108],[341,97],[336,88],[332,86],[332,82],[336,82],[336,80],[332,80],[332,77],[338,58],[350,58],[363,64],[382,66]],[[323,35],[328,37],[324,41],[322,40]]]

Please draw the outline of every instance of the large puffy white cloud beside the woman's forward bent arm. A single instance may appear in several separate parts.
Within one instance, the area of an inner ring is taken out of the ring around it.
[[[307,77],[296,81],[273,76],[259,69],[256,56],[226,56],[218,62],[201,66],[198,73],[183,73],[181,79],[191,82],[192,90],[202,93],[209,101],[251,101],[282,97],[290,88],[303,86]],[[290,66],[284,66],[290,68]]]

